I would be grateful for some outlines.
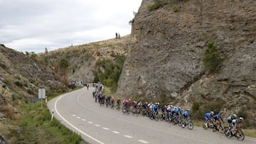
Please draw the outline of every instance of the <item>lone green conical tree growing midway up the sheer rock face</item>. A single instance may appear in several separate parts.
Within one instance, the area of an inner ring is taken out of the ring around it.
[[[213,41],[208,42],[208,48],[206,49],[203,57],[203,65],[210,73],[216,72],[220,69],[221,58],[218,49]]]

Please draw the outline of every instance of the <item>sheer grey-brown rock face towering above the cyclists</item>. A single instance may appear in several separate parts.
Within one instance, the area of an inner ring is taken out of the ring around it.
[[[149,4],[154,1],[143,0],[134,18],[136,43],[129,48],[117,94],[166,96],[190,106],[208,99],[255,108],[255,0],[184,0],[154,11]],[[208,74],[202,62],[209,40],[223,59],[215,74]],[[255,116],[255,109],[251,112]]]

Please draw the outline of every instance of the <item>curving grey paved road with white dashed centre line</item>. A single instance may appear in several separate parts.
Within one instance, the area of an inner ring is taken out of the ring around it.
[[[95,103],[93,90],[79,89],[48,102],[55,118],[89,143],[256,143],[256,138],[245,137],[241,142],[199,127],[188,130],[144,116],[124,115]]]

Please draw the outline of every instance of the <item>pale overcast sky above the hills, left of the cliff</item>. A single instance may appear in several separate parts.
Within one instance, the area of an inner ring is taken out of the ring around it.
[[[44,52],[131,33],[142,0],[0,0],[0,43]]]

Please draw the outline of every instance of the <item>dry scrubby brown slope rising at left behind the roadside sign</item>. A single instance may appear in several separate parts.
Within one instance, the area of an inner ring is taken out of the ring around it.
[[[46,71],[43,65],[21,52],[0,45],[0,57],[0,136],[8,135],[9,143],[15,143],[23,131],[19,126],[24,116],[22,108],[38,98],[38,89],[45,88],[46,96],[68,89],[53,72]]]

